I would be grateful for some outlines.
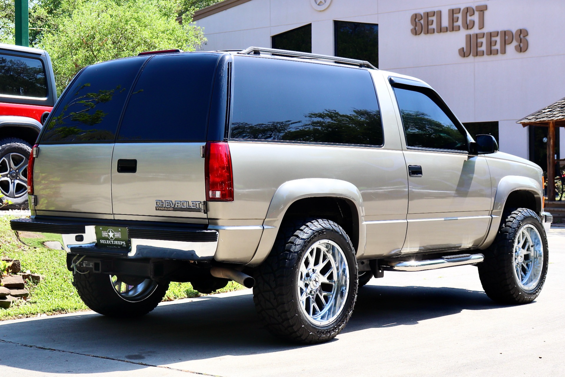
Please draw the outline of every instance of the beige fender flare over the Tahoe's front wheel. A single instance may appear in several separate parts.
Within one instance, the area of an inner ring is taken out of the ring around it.
[[[544,191],[540,182],[520,175],[506,175],[506,177],[503,177],[498,182],[496,195],[494,195],[492,220],[490,221],[489,232],[486,234],[485,240],[479,249],[484,250],[493,243],[502,221],[502,211],[504,211],[506,200],[514,191],[532,192],[534,198],[536,198],[536,202],[540,204],[541,211],[541,202],[544,198]]]

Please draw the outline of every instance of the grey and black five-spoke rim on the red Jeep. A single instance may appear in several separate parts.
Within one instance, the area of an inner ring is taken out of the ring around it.
[[[8,198],[28,193],[28,157],[20,153],[0,157],[0,192]]]

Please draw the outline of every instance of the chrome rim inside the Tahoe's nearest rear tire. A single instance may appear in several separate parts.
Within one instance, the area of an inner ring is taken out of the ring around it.
[[[349,266],[341,247],[329,239],[310,246],[298,271],[299,307],[316,325],[328,325],[344,309],[349,293]]]

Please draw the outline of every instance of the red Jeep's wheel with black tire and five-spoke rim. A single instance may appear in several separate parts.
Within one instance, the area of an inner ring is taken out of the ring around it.
[[[24,140],[0,140],[0,194],[3,195],[0,208],[28,208],[28,161],[31,152],[31,145]]]

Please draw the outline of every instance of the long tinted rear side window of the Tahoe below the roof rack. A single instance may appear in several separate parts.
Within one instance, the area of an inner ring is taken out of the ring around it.
[[[236,57],[233,78],[234,139],[383,145],[367,70]]]

